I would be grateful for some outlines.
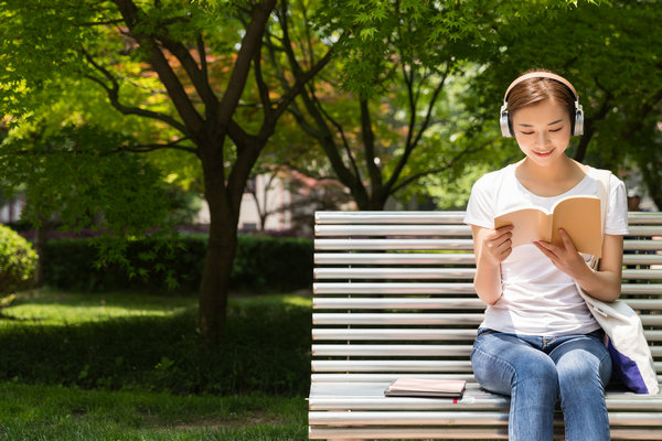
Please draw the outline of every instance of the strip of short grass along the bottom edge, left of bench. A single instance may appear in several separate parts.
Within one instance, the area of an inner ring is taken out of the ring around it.
[[[0,440],[307,440],[303,398],[0,384]]]

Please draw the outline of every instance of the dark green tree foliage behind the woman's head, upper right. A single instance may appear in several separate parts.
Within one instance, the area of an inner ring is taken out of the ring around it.
[[[573,140],[570,154],[619,173],[639,169],[662,206],[661,23],[656,1],[580,3],[535,20],[514,18],[481,61],[487,68],[474,82],[483,97],[479,123],[498,129],[503,92],[519,73],[556,71],[573,83],[585,110],[585,135]],[[511,142],[505,154],[515,150]]]

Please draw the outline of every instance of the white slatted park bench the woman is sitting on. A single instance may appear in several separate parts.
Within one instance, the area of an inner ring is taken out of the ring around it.
[[[462,212],[316,214],[310,439],[506,439],[506,398],[469,354],[484,304]],[[662,213],[630,213],[622,298],[662,374]],[[463,378],[461,400],[384,397],[402,376]],[[607,395],[613,439],[662,440],[662,395]],[[558,437],[563,419],[558,416]]]

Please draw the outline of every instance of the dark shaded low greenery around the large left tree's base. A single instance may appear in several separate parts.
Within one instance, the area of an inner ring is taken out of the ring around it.
[[[194,310],[166,316],[98,315],[82,323],[66,322],[62,312],[60,323],[41,324],[39,310],[31,315],[31,301],[21,299],[15,302],[21,315],[0,321],[0,380],[181,395],[307,394],[310,302],[231,301],[227,337],[213,345],[196,334]],[[103,300],[107,308],[127,301],[113,295]],[[67,302],[66,294],[52,301],[72,313],[83,308]],[[130,304],[139,302],[134,293]],[[160,308],[168,311],[169,302],[161,298]],[[12,314],[7,310],[7,316]]]

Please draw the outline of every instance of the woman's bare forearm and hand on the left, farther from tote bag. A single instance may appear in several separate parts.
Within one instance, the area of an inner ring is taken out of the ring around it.
[[[476,254],[473,287],[488,304],[496,303],[501,297],[501,261],[512,252],[512,225],[499,229],[471,225]]]

